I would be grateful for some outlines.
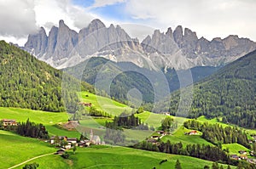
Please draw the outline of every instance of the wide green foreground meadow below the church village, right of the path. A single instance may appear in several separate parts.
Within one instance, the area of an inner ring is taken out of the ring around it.
[[[52,157],[52,159],[51,159]],[[166,160],[163,164],[160,161]],[[172,169],[175,166],[177,159],[181,162],[184,169],[198,169],[204,166],[212,166],[211,161],[203,161],[189,156],[170,155],[141,149],[130,149],[124,147],[107,147],[102,149],[96,148],[78,148],[76,154],[70,152],[69,160],[63,160],[58,156],[47,156],[31,162],[38,162],[40,168],[92,168],[92,169],[114,169],[114,168],[130,168],[130,169],[145,169],[145,168],[163,168]],[[54,161],[53,161],[54,160]],[[47,163],[47,161],[52,161]],[[60,166],[57,166],[60,164]],[[232,168],[235,168],[231,166]],[[224,166],[227,168],[227,166]]]

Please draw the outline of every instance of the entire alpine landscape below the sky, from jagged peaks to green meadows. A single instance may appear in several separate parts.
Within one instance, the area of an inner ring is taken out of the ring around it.
[[[256,168],[256,42],[47,29],[0,41],[0,168]]]

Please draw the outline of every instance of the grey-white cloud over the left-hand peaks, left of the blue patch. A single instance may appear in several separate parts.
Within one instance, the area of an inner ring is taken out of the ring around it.
[[[95,18],[71,0],[0,0],[0,8],[0,38],[20,46],[40,26],[49,31],[64,20],[71,29],[79,31]]]

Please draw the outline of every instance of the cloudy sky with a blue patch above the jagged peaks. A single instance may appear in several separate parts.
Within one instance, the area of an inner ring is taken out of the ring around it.
[[[59,20],[79,31],[91,20],[121,25],[143,40],[154,29],[166,32],[182,25],[197,36],[238,35],[256,41],[255,0],[0,0],[0,39],[23,46],[43,26]]]

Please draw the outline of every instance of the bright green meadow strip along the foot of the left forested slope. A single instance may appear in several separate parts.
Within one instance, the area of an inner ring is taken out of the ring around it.
[[[49,135],[59,135],[67,137],[79,137],[77,131],[67,131],[55,127],[55,124],[67,122],[67,113],[53,113],[40,110],[26,110],[20,108],[0,107],[0,119],[15,119],[16,121],[30,121],[42,123],[46,127]]]

